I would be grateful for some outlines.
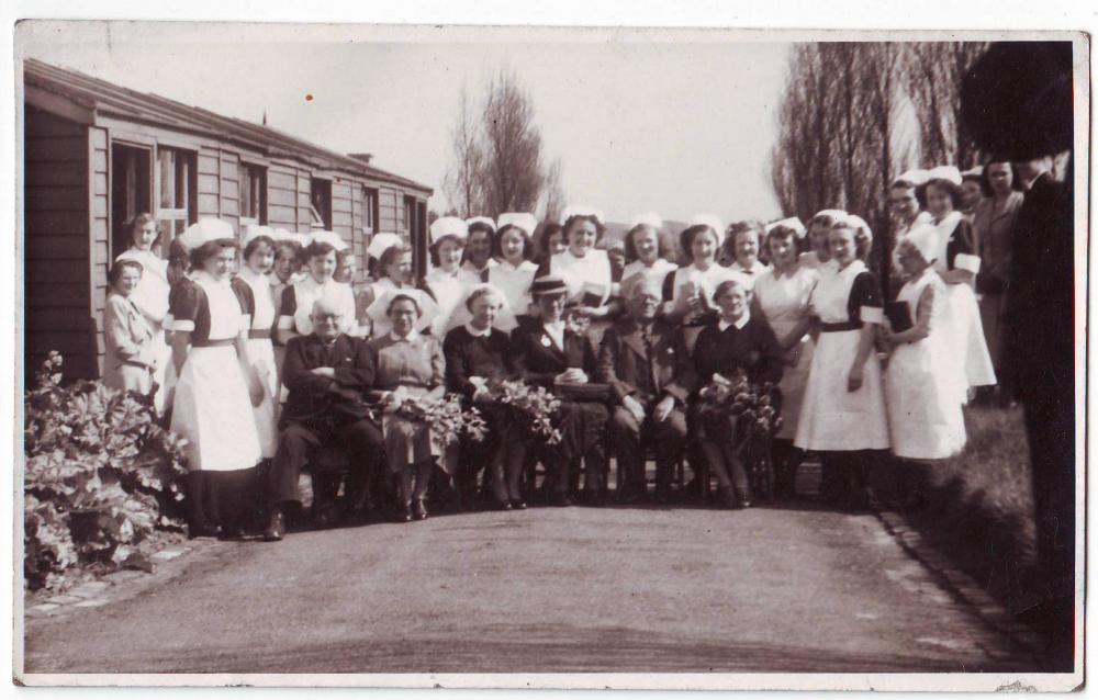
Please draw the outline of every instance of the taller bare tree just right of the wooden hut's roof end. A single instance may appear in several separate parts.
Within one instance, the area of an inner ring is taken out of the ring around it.
[[[541,132],[529,95],[507,69],[489,83],[482,128],[484,213],[534,211],[546,180]]]

